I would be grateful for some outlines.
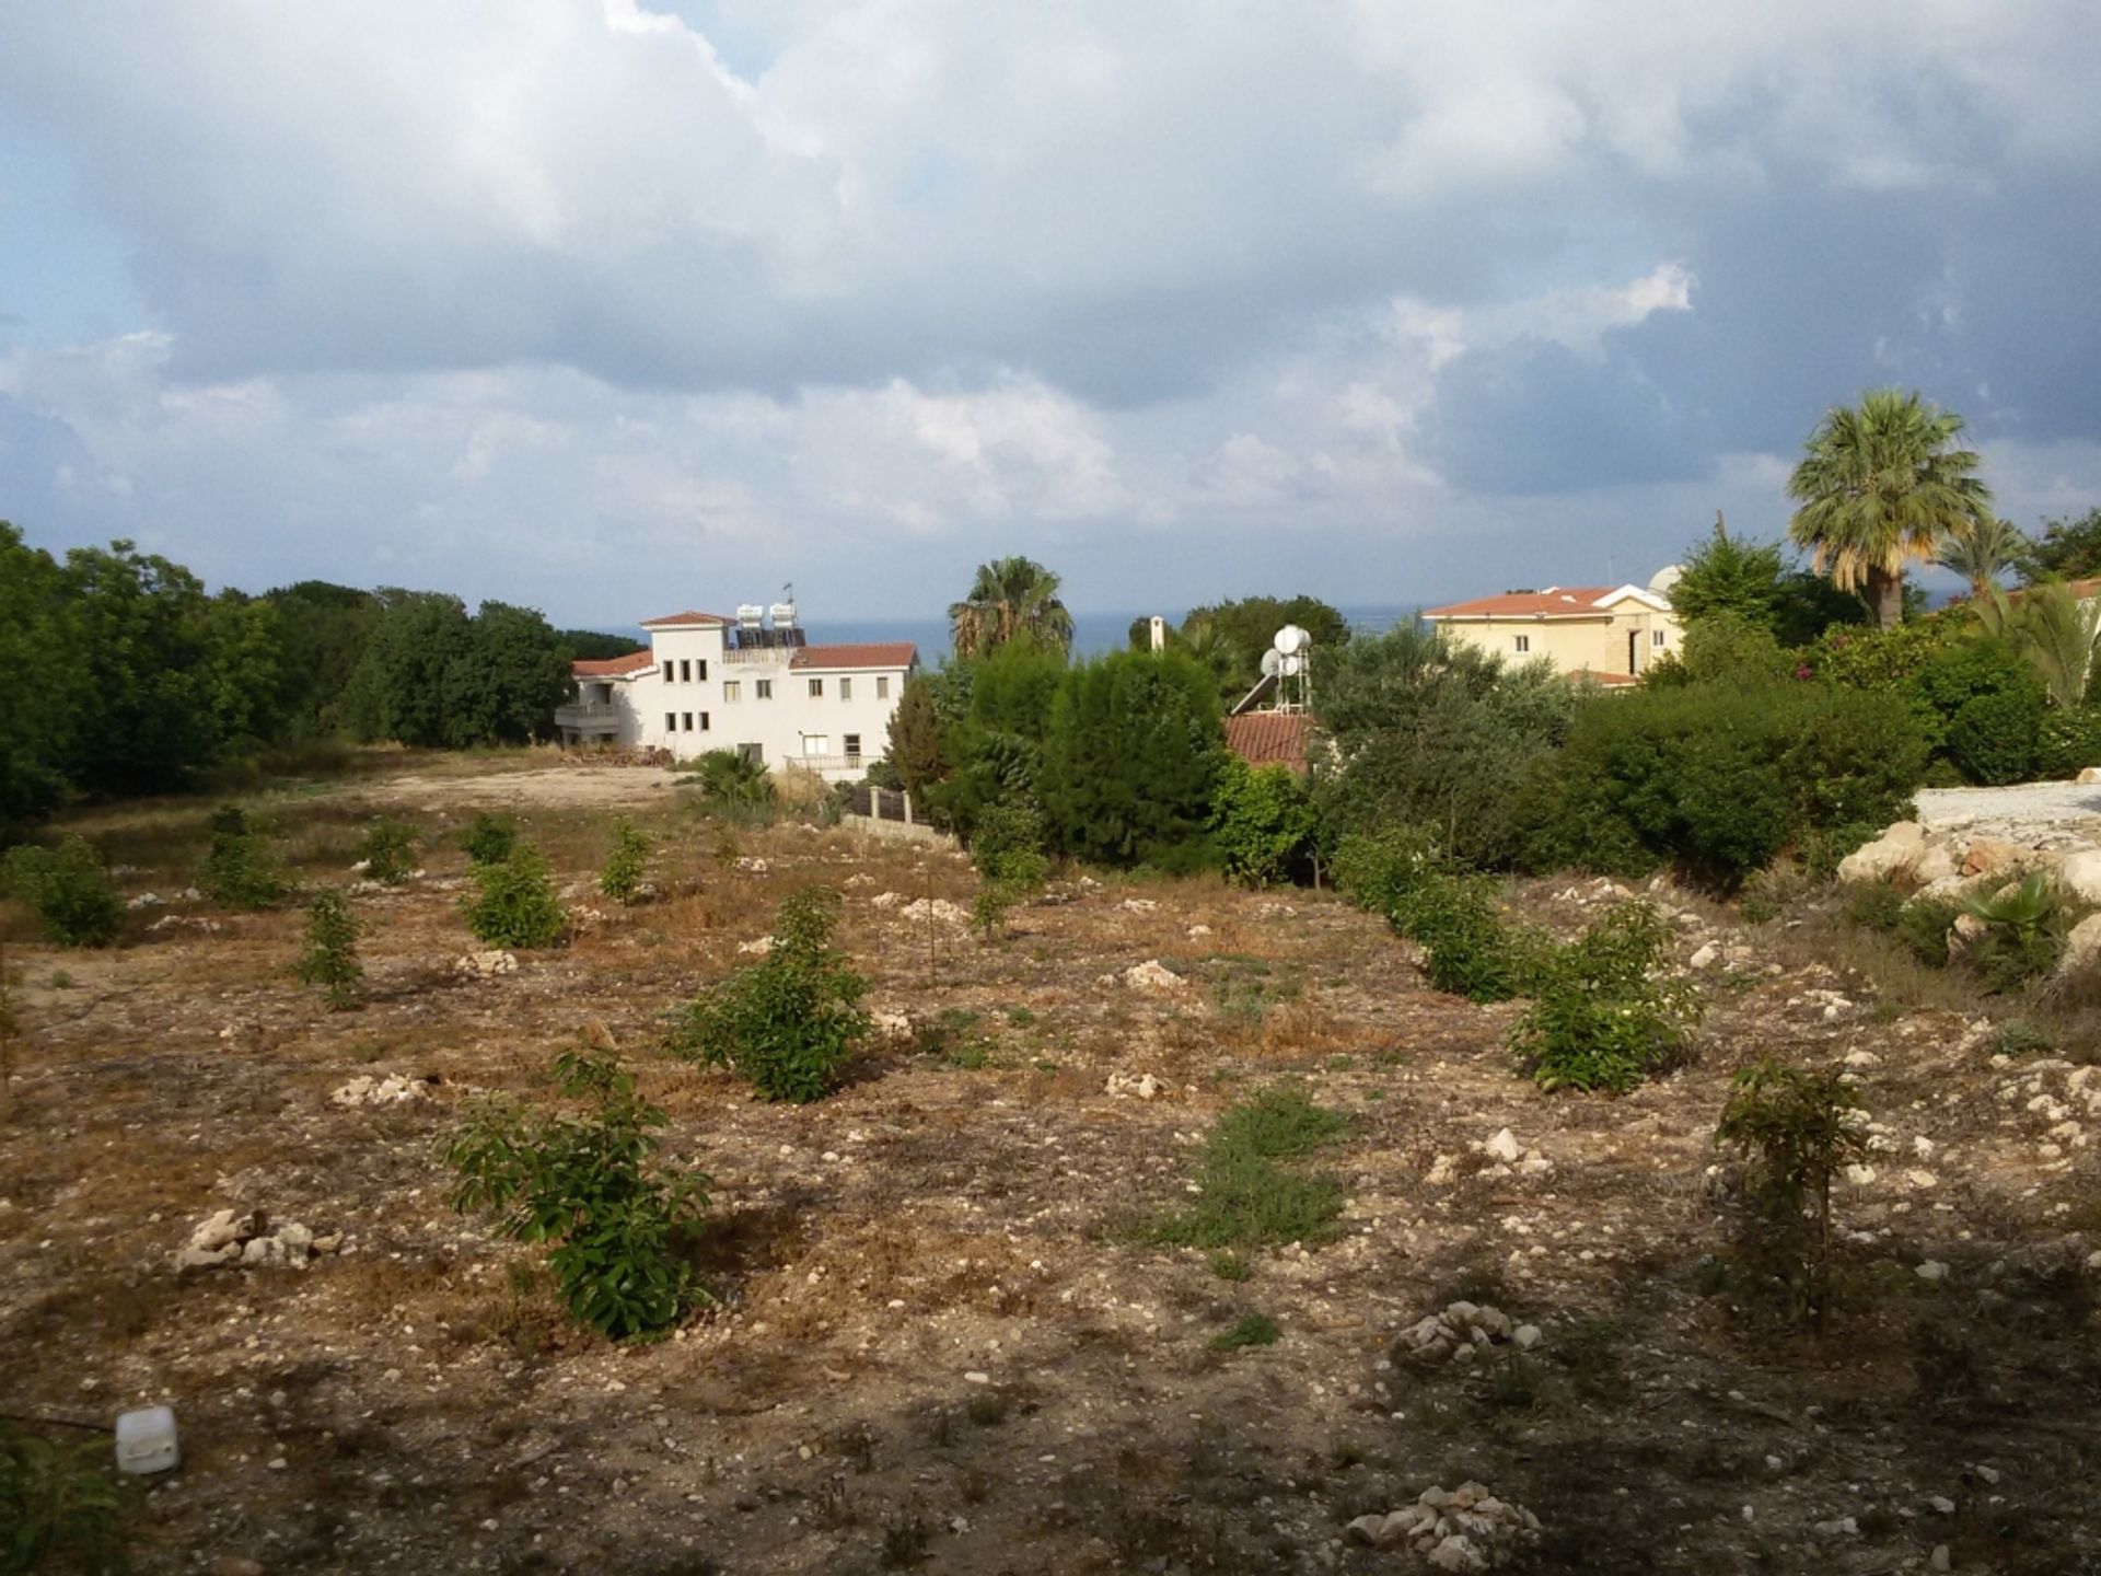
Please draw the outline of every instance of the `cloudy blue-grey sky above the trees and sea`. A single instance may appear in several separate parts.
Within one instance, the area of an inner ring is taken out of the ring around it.
[[[1645,578],[1819,412],[2101,502],[2093,0],[11,0],[0,517],[626,624]]]

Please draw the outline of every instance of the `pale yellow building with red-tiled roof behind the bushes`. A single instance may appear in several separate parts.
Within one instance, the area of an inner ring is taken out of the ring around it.
[[[1683,641],[1670,611],[1677,565],[1647,586],[1546,586],[1431,607],[1424,620],[1504,662],[1548,658],[1561,672],[1630,685]]]

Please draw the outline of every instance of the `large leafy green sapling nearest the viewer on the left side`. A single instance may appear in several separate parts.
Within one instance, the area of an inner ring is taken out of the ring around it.
[[[458,1126],[445,1164],[456,1210],[492,1210],[517,1242],[553,1242],[569,1313],[613,1341],[660,1334],[702,1297],[685,1248],[708,1177],[658,1158],[664,1112],[611,1059],[563,1053],[555,1084],[580,1116],[525,1112],[492,1095]]]

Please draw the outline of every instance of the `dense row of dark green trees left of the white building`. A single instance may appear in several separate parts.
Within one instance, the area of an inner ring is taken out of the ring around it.
[[[574,658],[632,647],[431,590],[208,593],[132,542],[59,559],[0,521],[0,834],[277,746],[523,744],[550,731]]]

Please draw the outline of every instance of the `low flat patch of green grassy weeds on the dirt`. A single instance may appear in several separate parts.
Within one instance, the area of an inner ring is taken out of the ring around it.
[[[1343,1131],[1301,1088],[1280,1084],[1229,1105],[1212,1124],[1198,1166],[1198,1194],[1185,1206],[1139,1221],[1139,1242],[1177,1248],[1261,1248],[1324,1242],[1343,1212],[1343,1185],[1298,1160]]]

